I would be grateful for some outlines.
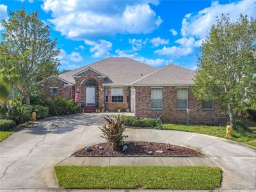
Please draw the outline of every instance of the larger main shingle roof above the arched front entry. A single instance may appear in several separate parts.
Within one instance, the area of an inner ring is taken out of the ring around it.
[[[90,65],[70,70],[60,74],[59,77],[70,83],[75,83],[75,79],[72,76],[89,67],[108,76],[104,83],[109,84],[130,84],[132,81],[139,79],[141,74],[145,76],[156,70],[156,68],[139,61],[118,57],[106,58]]]

